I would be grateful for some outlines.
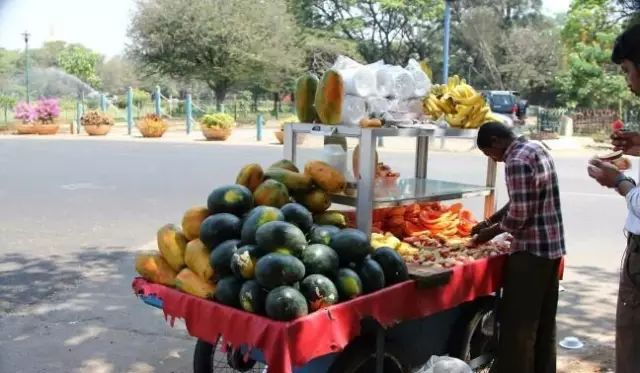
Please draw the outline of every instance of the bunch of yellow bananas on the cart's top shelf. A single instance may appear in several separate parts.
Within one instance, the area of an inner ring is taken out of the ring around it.
[[[478,128],[495,119],[484,97],[457,75],[447,84],[434,85],[423,105],[431,118],[444,118],[454,128]]]

